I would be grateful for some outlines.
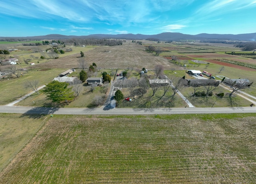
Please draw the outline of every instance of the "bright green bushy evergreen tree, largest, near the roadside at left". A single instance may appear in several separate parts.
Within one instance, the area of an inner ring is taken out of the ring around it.
[[[66,82],[52,81],[46,85],[44,93],[48,99],[56,103],[73,100],[74,92],[72,87],[68,87],[68,85]]]

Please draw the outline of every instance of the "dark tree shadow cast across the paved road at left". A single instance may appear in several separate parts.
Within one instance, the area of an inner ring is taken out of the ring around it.
[[[23,113],[20,117],[28,117],[32,119],[40,119],[45,115],[53,114],[58,111],[60,108],[58,107],[34,107],[25,113]]]

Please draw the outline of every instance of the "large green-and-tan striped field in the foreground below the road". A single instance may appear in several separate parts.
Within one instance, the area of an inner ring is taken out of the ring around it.
[[[0,183],[254,183],[255,114],[54,115]]]

